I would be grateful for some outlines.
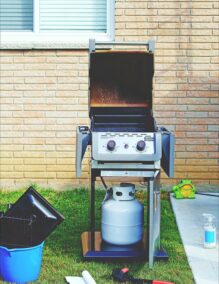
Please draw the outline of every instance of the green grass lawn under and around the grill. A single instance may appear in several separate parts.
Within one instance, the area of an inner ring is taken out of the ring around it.
[[[139,278],[169,280],[177,284],[194,283],[166,193],[162,194],[161,243],[169,254],[169,261],[157,262],[153,269],[149,269],[148,264],[143,262],[84,262],[80,235],[88,230],[88,190],[55,192],[52,189],[39,189],[39,192],[65,216],[65,221],[45,242],[43,265],[37,283],[65,283],[64,276],[81,276],[86,269],[97,284],[110,284],[115,283],[111,279],[112,269],[124,266],[130,268],[130,274]],[[15,202],[22,193],[0,191],[0,211],[5,210],[8,203]],[[103,196],[104,192],[97,190],[96,208],[100,207]],[[138,197],[144,201],[145,193],[138,192]],[[100,226],[98,209],[97,223]]]

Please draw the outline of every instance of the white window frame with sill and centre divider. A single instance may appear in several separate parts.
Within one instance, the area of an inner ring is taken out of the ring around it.
[[[81,31],[40,31],[40,0],[33,0],[33,31],[1,31],[1,47],[17,48],[34,47],[83,47],[89,38],[99,41],[112,41],[114,39],[115,22],[115,0],[107,1],[107,31],[101,32],[81,32]]]

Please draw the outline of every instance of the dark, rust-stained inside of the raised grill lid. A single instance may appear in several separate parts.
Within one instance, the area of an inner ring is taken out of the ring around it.
[[[96,51],[90,54],[90,111],[96,107],[152,109],[153,53]]]

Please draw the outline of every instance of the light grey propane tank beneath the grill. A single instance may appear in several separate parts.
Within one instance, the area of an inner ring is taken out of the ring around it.
[[[131,245],[143,237],[144,207],[135,199],[135,186],[121,183],[102,205],[102,239],[114,245]]]

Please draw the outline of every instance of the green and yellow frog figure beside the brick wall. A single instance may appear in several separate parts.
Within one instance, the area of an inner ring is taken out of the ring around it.
[[[183,179],[179,184],[173,186],[174,197],[177,199],[193,199],[195,198],[195,191],[195,186],[189,179]]]

